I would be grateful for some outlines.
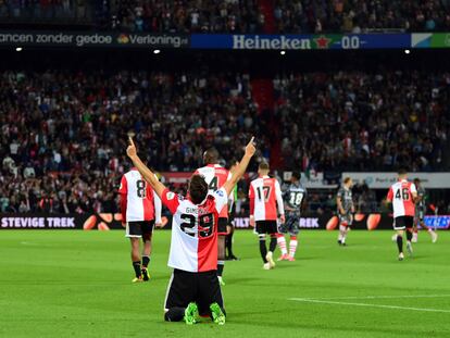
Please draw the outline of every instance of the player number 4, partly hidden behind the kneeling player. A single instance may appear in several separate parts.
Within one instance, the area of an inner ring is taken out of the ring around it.
[[[210,193],[220,189],[225,181],[227,181],[232,174],[223,166],[216,164],[218,162],[218,152],[215,148],[208,149],[203,154],[203,167],[198,168],[193,174],[203,176],[208,184],[208,191]],[[233,198],[233,195],[230,196]],[[228,225],[228,208],[223,208],[218,214],[218,240],[217,240],[217,278],[218,283],[224,286],[222,278],[225,267],[225,238],[227,234],[226,226]]]

